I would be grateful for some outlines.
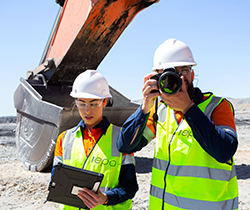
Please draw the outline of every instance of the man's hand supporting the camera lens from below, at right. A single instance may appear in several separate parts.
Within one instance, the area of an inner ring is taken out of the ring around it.
[[[161,92],[161,99],[172,109],[176,111],[181,111],[183,114],[186,112],[194,103],[190,99],[187,92],[187,84],[184,81],[184,77],[182,79],[182,86],[179,92],[174,95],[167,95]]]

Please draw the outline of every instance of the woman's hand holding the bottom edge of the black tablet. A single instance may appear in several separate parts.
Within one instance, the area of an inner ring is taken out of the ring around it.
[[[108,199],[108,196],[99,189],[97,193],[94,193],[92,190],[83,188],[78,191],[77,195],[87,207],[90,209],[96,207],[97,205],[104,204]]]

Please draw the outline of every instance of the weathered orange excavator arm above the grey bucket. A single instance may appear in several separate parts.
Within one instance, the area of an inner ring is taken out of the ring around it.
[[[49,84],[58,85],[72,83],[86,69],[96,69],[135,15],[153,2],[66,1],[43,60],[47,68],[41,64],[28,72],[28,78],[43,72]]]

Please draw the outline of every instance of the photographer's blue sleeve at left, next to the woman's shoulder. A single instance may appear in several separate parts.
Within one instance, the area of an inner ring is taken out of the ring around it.
[[[148,144],[143,137],[149,114],[144,114],[141,106],[126,120],[120,132],[117,147],[122,153],[132,153],[141,150]]]

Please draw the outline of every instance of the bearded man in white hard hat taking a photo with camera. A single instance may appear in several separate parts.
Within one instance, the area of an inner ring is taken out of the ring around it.
[[[234,110],[193,87],[195,65],[185,43],[161,44],[155,72],[144,77],[143,103],[118,139],[119,151],[130,153],[156,138],[149,209],[238,209]]]

